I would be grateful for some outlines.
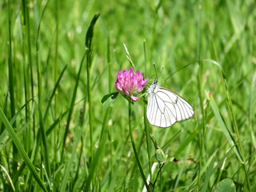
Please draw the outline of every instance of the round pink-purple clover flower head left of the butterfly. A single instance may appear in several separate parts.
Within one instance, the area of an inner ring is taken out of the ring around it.
[[[149,78],[144,79],[143,74],[138,70],[135,74],[133,68],[120,70],[115,82],[115,88],[121,94],[126,94],[126,96],[130,97],[132,101],[137,102],[140,98],[136,96],[144,90],[148,80]]]

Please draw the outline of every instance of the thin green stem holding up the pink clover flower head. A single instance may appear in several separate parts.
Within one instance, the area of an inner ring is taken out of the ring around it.
[[[137,153],[136,146],[134,143],[134,136],[133,136],[133,132],[131,130],[131,102],[129,102],[129,133],[130,133],[130,141],[133,146],[136,162],[138,164],[138,169],[141,172],[144,185],[146,186],[146,190],[149,191],[149,186],[147,185],[146,177],[145,177],[145,174],[143,173],[141,162],[139,162],[139,159],[138,159],[138,153]]]

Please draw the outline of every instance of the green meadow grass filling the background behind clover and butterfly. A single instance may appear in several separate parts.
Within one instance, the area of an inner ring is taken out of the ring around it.
[[[195,111],[167,129],[149,126],[180,160],[163,167],[154,190],[214,191],[224,178],[256,190],[254,0],[3,0],[0,14],[1,191],[142,191],[128,103],[119,95],[103,110],[101,102],[116,91],[118,70],[130,68],[123,43],[150,82],[153,63],[158,74],[164,66],[160,85]],[[143,111],[141,101],[132,106],[147,177],[156,159]]]

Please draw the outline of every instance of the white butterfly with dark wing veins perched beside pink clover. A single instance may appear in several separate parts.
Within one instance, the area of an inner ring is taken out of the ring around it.
[[[173,91],[158,86],[157,81],[150,86],[148,94],[146,116],[154,126],[169,127],[194,115],[190,103]]]

